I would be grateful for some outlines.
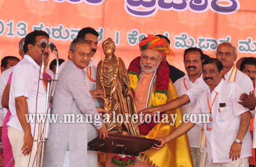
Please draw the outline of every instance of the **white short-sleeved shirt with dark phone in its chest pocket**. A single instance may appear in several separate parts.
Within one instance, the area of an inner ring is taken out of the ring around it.
[[[213,103],[216,93],[216,100],[212,107],[213,126],[212,130],[206,130],[207,123],[199,123],[197,117],[196,124],[202,125],[207,138],[207,158],[209,162],[224,163],[230,162],[230,146],[236,139],[241,114],[249,109],[244,108],[237,103],[239,96],[244,91],[241,86],[234,82],[226,82],[222,79],[215,89],[211,92],[210,88],[206,89],[198,98],[192,113],[209,114],[207,103],[207,93],[209,94],[209,104]],[[225,105],[221,105],[225,104]],[[225,107],[224,107],[225,106]],[[192,121],[192,120],[191,120]],[[252,156],[252,139],[249,130],[247,131],[242,144],[241,158]]]

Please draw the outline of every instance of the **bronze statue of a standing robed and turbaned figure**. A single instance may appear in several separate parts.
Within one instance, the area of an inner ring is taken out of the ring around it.
[[[130,88],[128,73],[123,60],[115,56],[115,43],[111,38],[103,41],[102,48],[105,57],[97,65],[96,88],[103,89],[103,109],[113,111],[108,113],[109,122],[105,123],[109,133],[140,136],[137,123],[131,121],[131,115],[137,114]],[[115,112],[115,113],[114,113]],[[123,122],[117,121],[117,115],[122,114]],[[126,114],[128,123],[126,123]]]

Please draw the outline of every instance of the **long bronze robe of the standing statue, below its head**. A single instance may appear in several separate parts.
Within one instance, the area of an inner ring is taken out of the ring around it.
[[[101,71],[101,62],[97,65],[97,77],[96,77],[96,88],[102,89],[102,85],[100,83],[100,71]],[[103,102],[103,109],[107,110],[106,105],[110,103],[110,91],[111,86],[114,82],[114,75],[117,68],[117,57],[112,56],[112,58],[105,58],[103,65],[103,83],[104,88],[106,89],[106,101]],[[113,98],[110,106],[110,111],[115,111],[115,114],[109,113],[110,121],[106,123],[106,128],[110,133],[123,134],[123,130],[127,130],[129,135],[132,136],[140,136],[138,126],[136,123],[131,121],[131,116],[128,117],[128,122],[117,121],[117,115],[122,114],[124,118],[126,118],[126,114],[137,114],[132,92],[130,89],[130,82],[128,78],[128,73],[126,70],[126,66],[123,60],[119,57],[119,70],[117,73],[117,78],[115,84],[113,85]],[[128,93],[127,93],[128,92]],[[102,99],[101,99],[102,101]],[[115,116],[115,118],[113,118]],[[113,122],[113,120],[116,122]],[[124,128],[124,126],[125,128]]]

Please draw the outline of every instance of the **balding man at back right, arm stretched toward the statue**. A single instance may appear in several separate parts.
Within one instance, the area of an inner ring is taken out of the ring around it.
[[[219,59],[224,66],[223,79],[225,81],[238,83],[243,88],[244,92],[249,94],[249,92],[253,90],[253,83],[247,75],[235,67],[234,61],[236,60],[236,57],[236,47],[232,43],[223,42],[217,46],[216,58]],[[188,103],[191,105],[206,89],[207,84],[203,81],[203,78],[200,77],[182,96],[166,103],[165,105],[144,109],[140,112],[154,115],[157,111],[163,112],[173,110]]]

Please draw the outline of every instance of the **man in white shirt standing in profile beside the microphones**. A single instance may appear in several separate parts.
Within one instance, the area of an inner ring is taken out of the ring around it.
[[[8,138],[12,145],[15,167],[32,167],[37,150],[38,122],[27,122],[25,114],[45,112],[46,87],[39,79],[42,58],[40,41],[49,41],[44,31],[34,30],[25,37],[24,58],[13,71],[9,109],[11,116],[8,126]],[[49,55],[48,48],[44,50]],[[49,122],[46,122],[46,138]],[[31,159],[30,159],[31,154]]]

